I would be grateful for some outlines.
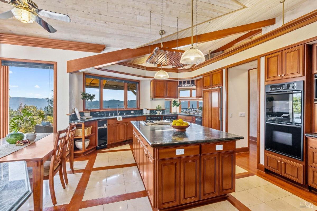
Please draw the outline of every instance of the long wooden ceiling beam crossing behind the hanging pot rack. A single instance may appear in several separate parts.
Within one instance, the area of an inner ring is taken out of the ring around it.
[[[212,40],[217,40],[223,37],[228,37],[230,35],[236,35],[243,32],[249,32],[256,29],[262,29],[263,27],[275,24],[275,18],[268,19],[265,21],[259,21],[255,23],[249,23],[242,26],[236,26],[229,29],[222,29],[214,32],[209,32],[205,34],[198,35],[198,42],[208,42]],[[196,36],[194,37],[196,40]],[[191,44],[191,37],[185,37],[178,39],[178,46],[185,46]],[[175,48],[177,45],[177,40],[171,40],[163,42],[165,48]],[[151,48],[160,47],[161,44],[152,44]],[[149,54],[149,47],[144,46],[141,48],[131,49],[125,48],[122,50],[112,51],[104,54],[98,54],[94,56],[88,56],[80,59],[74,59],[67,61],[67,72],[74,73],[79,70],[91,68],[91,67],[102,67],[106,65],[116,64],[121,61],[128,61],[134,58],[141,57],[145,54]]]

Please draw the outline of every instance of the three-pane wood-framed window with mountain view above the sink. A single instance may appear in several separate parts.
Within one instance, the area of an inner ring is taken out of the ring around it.
[[[84,92],[95,94],[95,99],[88,101],[88,109],[139,108],[139,82],[90,74],[85,74],[85,81]]]

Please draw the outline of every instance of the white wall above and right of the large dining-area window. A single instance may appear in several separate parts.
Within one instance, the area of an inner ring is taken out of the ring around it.
[[[69,118],[66,114],[69,113],[70,93],[74,94],[73,89],[70,87],[75,83],[82,83],[82,80],[69,81],[69,74],[66,72],[66,62],[68,60],[95,54],[96,53],[71,50],[0,44],[0,57],[3,58],[57,62],[57,130],[64,129],[69,124]]]

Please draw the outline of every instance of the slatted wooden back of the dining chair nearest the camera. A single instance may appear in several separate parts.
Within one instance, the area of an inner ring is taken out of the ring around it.
[[[68,134],[68,127],[67,129],[57,131],[53,155],[51,159],[51,167],[54,167],[54,169],[61,163],[64,147],[67,142],[67,134]]]

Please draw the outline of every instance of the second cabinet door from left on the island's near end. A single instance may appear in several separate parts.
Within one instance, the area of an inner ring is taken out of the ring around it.
[[[180,160],[180,203],[199,200],[200,156]]]

